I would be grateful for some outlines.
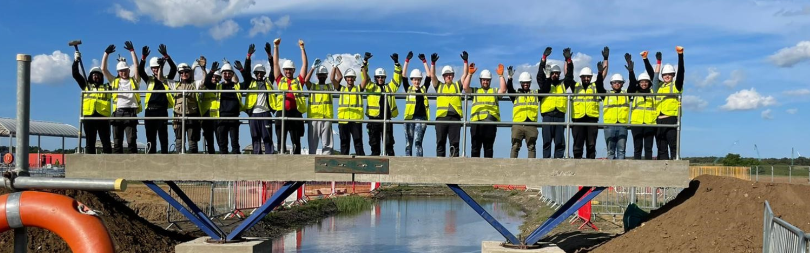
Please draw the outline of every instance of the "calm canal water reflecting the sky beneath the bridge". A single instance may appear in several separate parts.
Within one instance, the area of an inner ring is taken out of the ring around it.
[[[523,212],[502,202],[480,203],[518,233]],[[371,210],[328,217],[273,240],[273,252],[480,252],[481,241],[504,241],[458,198],[384,199]]]

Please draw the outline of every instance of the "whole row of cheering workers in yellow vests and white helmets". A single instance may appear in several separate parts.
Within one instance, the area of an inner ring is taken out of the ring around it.
[[[633,59],[625,54],[625,67],[628,71],[629,85],[623,75],[610,76],[610,88],[603,85],[608,78],[608,57],[610,49],[605,47],[602,51],[603,61],[598,62],[594,72],[590,67],[582,67],[579,71],[580,81],[574,80],[574,66],[571,60],[571,49],[564,49],[564,66],[551,65],[547,67],[547,58],[552,54],[552,48],[544,50],[539,69],[532,79],[529,72],[518,75],[517,89],[513,86],[514,67],[497,66],[495,71],[498,77],[498,87],[492,87],[492,71],[482,70],[479,73],[480,87],[471,87],[473,75],[478,72],[475,63],[469,62],[469,54],[462,52],[462,75],[455,79],[455,70],[452,66],[441,68],[441,78],[436,75],[436,62],[438,54],[424,54],[417,57],[424,66],[424,72],[413,69],[407,77],[408,65],[414,54],[408,52],[404,63],[400,64],[399,54],[391,54],[394,63],[393,78],[388,80],[386,69],[378,67],[369,76],[369,60],[373,54],[356,55],[356,61],[361,62],[360,73],[352,68],[340,69],[342,56],[327,56],[325,61],[316,59],[309,66],[304,41],[298,41],[301,48],[301,67],[296,72],[295,64],[290,61],[279,62],[279,45],[281,40],[276,39],[273,44],[266,43],[265,52],[270,66],[262,64],[253,65],[251,58],[256,52],[255,45],[249,45],[245,64],[235,61],[233,64],[224,60],[213,62],[207,69],[207,60],[198,58],[190,66],[187,63],[175,64],[168,54],[165,45],[160,45],[160,57],[148,60],[151,75],[146,71],[147,58],[151,53],[148,46],[141,50],[138,58],[131,41],[124,43],[124,49],[130,51],[132,61],[138,71],[131,73],[126,58],[119,57],[116,65],[117,75],[110,73],[107,62],[110,54],[115,52],[116,46],[109,45],[104,50],[104,57],[100,67],[93,67],[85,78],[79,72],[81,54],[75,53],[73,76],[83,91],[117,91],[85,93],[82,103],[83,128],[87,136],[85,152],[96,152],[96,135],[102,143],[104,153],[135,153],[137,145],[138,121],[134,119],[142,111],[147,117],[144,120],[147,131],[147,152],[157,152],[156,144],[160,142],[160,152],[168,153],[168,110],[171,109],[174,117],[191,118],[218,118],[216,120],[174,120],[172,127],[176,136],[176,151],[181,152],[184,144],[188,153],[197,153],[198,142],[202,139],[206,145],[207,153],[215,153],[215,140],[220,153],[228,153],[228,139],[230,139],[230,152],[239,153],[239,116],[248,115],[250,136],[253,143],[254,154],[272,154],[279,151],[282,144],[291,139],[293,154],[301,153],[301,138],[305,135],[305,125],[308,125],[307,139],[310,154],[332,154],[332,122],[335,118],[334,99],[338,99],[337,121],[339,128],[339,153],[348,155],[352,142],[355,154],[365,156],[363,144],[363,119],[372,120],[392,119],[399,116],[394,96],[383,96],[384,92],[397,92],[404,86],[405,109],[403,118],[407,144],[406,156],[423,156],[422,140],[430,118],[431,96],[424,95],[428,88],[433,87],[435,97],[435,129],[437,136],[437,157],[458,157],[459,136],[462,119],[466,116],[462,107],[462,97],[459,94],[484,94],[472,97],[471,111],[471,157],[492,157],[493,144],[496,139],[497,122],[501,122],[499,101],[497,94],[569,94],[567,96],[508,96],[513,103],[512,122],[554,122],[543,125],[543,158],[562,158],[565,149],[565,117],[570,113],[573,134],[573,158],[596,157],[596,138],[599,133],[600,116],[605,124],[604,138],[607,143],[608,159],[625,159],[625,144],[628,136],[629,124],[633,136],[633,158],[650,160],[653,157],[653,143],[657,142],[658,159],[675,159],[677,152],[677,134],[675,127],[655,127],[652,125],[665,124],[675,126],[680,117],[680,99],[676,93],[683,91],[684,57],[683,47],[676,47],[678,54],[678,67],[667,64],[662,67],[660,52],[655,54],[657,64],[653,66],[647,58],[647,51],[641,56],[645,64],[645,72],[636,75],[633,70]],[[168,64],[169,71],[163,73],[164,64]],[[329,66],[331,65],[331,71]],[[252,67],[251,67],[252,66]],[[308,67],[309,66],[309,67]],[[269,68],[269,70],[268,70]],[[202,80],[194,79],[194,71],[202,71],[205,77]],[[242,81],[236,75],[241,74]],[[652,75],[650,75],[652,73]],[[271,76],[268,76],[271,74]],[[310,81],[312,76],[316,79]],[[360,75],[360,79],[357,79]],[[660,78],[659,78],[660,75]],[[104,82],[104,79],[109,82]],[[147,85],[147,91],[173,90],[177,92],[150,92],[141,101],[137,93],[139,84]],[[531,89],[535,81],[538,89]],[[330,83],[327,83],[330,82]],[[295,91],[339,91],[353,92],[333,96],[330,93],[311,93],[309,95]],[[222,92],[196,92],[199,90]],[[291,91],[258,92],[258,91]],[[133,92],[134,91],[134,92]],[[182,91],[182,92],[181,92]],[[228,92],[226,92],[228,91]],[[240,92],[241,91],[241,92]],[[421,93],[421,94],[420,94]],[[621,93],[660,93],[659,96],[610,96]],[[492,95],[485,95],[492,94]],[[575,95],[574,95],[575,94]],[[606,95],[607,94],[607,95]],[[363,98],[365,96],[365,100]],[[387,100],[387,101],[386,101]],[[599,102],[602,109],[599,109]],[[365,104],[365,105],[364,105]],[[569,105],[572,108],[569,109]],[[570,110],[570,112],[569,112]],[[271,120],[267,118],[286,117],[304,118],[306,120]],[[157,118],[155,118],[157,117]],[[120,118],[120,119],[117,119]],[[283,126],[282,126],[283,124]],[[366,129],[369,134],[371,156],[394,156],[394,130],[390,122],[368,122]],[[109,141],[110,125],[113,129],[113,142]],[[276,143],[272,134],[275,126]],[[283,131],[283,132],[282,132]],[[514,124],[512,126],[510,157],[518,157],[522,144],[525,142],[528,157],[536,157],[535,144],[539,137],[536,123]],[[184,134],[185,132],[185,134]],[[126,135],[128,148],[122,148]],[[383,138],[383,135],[386,135]],[[185,136],[185,141],[182,139]],[[450,142],[449,152],[447,142]],[[385,147],[381,147],[384,143]],[[318,152],[318,144],[321,145]],[[553,147],[553,154],[552,154]],[[414,152],[413,149],[416,149]],[[384,149],[384,150],[383,150]],[[643,152],[643,156],[642,156]],[[552,156],[553,155],[553,156]]]

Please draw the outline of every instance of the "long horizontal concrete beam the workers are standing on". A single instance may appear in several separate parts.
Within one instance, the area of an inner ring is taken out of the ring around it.
[[[315,173],[306,155],[69,154],[68,178],[193,181],[352,181]],[[332,156],[341,157],[341,156]],[[357,159],[361,159],[358,157]],[[358,182],[471,185],[688,187],[689,161],[462,157],[388,158],[389,174],[356,174]]]

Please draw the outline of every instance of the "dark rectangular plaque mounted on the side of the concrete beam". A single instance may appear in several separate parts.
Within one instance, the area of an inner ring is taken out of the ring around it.
[[[388,174],[388,159],[315,157],[315,172]]]

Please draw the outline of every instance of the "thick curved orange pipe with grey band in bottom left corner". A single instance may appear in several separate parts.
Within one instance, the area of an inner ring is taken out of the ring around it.
[[[6,217],[6,200],[0,195],[0,233],[12,229]],[[11,204],[11,203],[9,203]],[[79,201],[42,191],[23,191],[19,216],[24,226],[48,229],[67,242],[75,253],[113,253],[113,238],[99,217],[79,212]]]

